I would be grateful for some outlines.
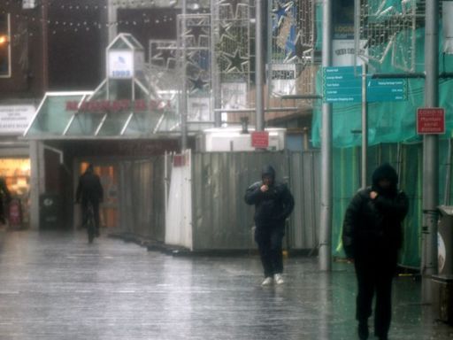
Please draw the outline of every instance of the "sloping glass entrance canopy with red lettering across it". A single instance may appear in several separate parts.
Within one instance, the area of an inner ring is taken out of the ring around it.
[[[129,93],[134,93],[134,100]],[[114,97],[115,100],[108,98]],[[150,95],[141,81],[103,81],[95,91],[48,92],[25,139],[162,138],[180,135],[177,94]]]

